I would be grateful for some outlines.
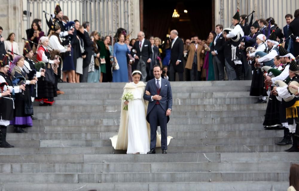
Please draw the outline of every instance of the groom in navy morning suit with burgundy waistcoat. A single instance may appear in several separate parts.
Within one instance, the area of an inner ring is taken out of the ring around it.
[[[172,92],[170,82],[161,78],[162,69],[159,65],[153,67],[155,78],[147,82],[146,91],[150,96],[144,93],[143,98],[149,101],[147,107],[147,121],[150,125],[150,151],[147,154],[156,153],[157,128],[161,128],[161,149],[162,154],[167,150],[167,123],[172,108]]]

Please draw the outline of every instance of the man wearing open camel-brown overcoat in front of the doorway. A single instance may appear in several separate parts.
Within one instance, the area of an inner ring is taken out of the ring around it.
[[[189,56],[185,68],[190,70],[190,81],[199,81],[205,49],[198,44],[198,36],[194,36],[194,41],[187,47],[187,51]]]

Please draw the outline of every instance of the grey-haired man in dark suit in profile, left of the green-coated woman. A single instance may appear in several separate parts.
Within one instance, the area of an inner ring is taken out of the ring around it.
[[[91,46],[93,45],[93,41],[91,41],[88,34],[90,30],[89,22],[84,22],[83,28],[84,28],[84,33],[83,33],[84,50],[87,54],[83,60],[83,74],[80,76],[80,82],[87,82],[88,66],[91,62],[91,56],[93,55],[92,48],[91,48]]]

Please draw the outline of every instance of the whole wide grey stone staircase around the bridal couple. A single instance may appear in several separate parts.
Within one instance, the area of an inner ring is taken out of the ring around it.
[[[298,153],[274,144],[282,130],[264,130],[266,104],[252,104],[250,84],[172,82],[167,155],[126,155],[111,146],[124,83],[59,84],[65,94],[52,107],[34,107],[29,133],[8,133],[16,148],[0,148],[0,188],[286,190]]]

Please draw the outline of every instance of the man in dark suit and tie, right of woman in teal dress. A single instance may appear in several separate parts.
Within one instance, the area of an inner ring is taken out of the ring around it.
[[[215,80],[223,81],[224,80],[224,42],[225,38],[222,35],[223,26],[221,24],[216,25],[215,32],[217,36],[214,37],[212,46],[211,46],[211,53],[213,55],[213,66],[214,66],[214,75]]]

